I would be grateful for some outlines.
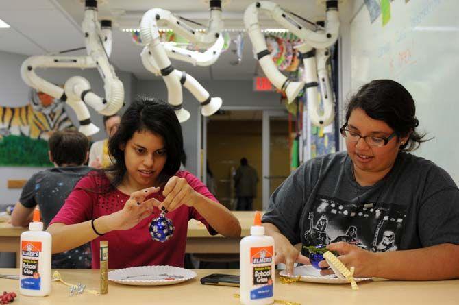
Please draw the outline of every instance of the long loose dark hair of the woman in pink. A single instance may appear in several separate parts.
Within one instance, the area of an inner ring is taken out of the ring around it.
[[[125,145],[135,132],[142,131],[152,132],[164,139],[167,159],[158,182],[164,184],[179,170],[183,136],[182,127],[173,108],[161,99],[139,96],[127,108],[121,117],[118,130],[108,141],[112,166],[104,171],[110,175],[112,186],[118,186],[127,171],[124,151],[120,147]]]

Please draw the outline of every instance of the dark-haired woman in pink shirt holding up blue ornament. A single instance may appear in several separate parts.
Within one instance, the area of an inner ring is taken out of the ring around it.
[[[121,118],[108,149],[113,165],[82,178],[47,231],[53,253],[91,242],[109,245],[109,267],[184,265],[188,220],[201,221],[210,234],[240,236],[240,224],[206,186],[188,171],[179,171],[182,128],[168,103],[137,99]],[[173,236],[160,243],[149,234],[149,223],[166,212]],[[92,267],[99,268],[98,255]]]

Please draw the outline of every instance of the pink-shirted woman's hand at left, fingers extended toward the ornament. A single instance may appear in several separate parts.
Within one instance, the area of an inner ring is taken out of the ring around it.
[[[161,204],[161,202],[154,198],[148,200],[145,200],[145,198],[158,191],[160,191],[160,188],[151,187],[131,193],[131,197],[126,201],[123,210],[109,215],[112,230],[129,230],[143,219],[149,217],[153,212],[153,208]]]

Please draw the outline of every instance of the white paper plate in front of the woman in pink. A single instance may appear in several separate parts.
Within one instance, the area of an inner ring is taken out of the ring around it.
[[[195,271],[172,266],[141,266],[117,269],[108,273],[108,280],[125,285],[160,286],[196,278]]]

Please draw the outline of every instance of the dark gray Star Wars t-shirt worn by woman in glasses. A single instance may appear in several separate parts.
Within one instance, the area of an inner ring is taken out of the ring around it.
[[[347,152],[314,158],[271,195],[263,222],[293,245],[345,241],[372,252],[459,244],[459,190],[433,162],[400,152],[373,186],[360,186]]]

